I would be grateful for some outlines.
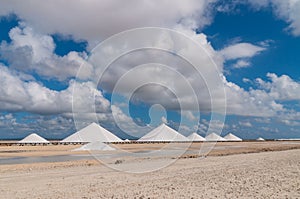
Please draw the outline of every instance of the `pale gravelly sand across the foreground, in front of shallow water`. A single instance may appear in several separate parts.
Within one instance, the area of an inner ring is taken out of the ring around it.
[[[285,148],[297,144],[276,148],[276,143],[235,143],[244,147],[229,149],[224,145],[230,143],[218,144],[206,158],[183,158],[142,174],[119,172],[95,160],[1,165],[0,198],[300,198],[300,149]],[[36,153],[62,153],[70,146],[65,147]],[[275,148],[286,151],[269,152]],[[119,166],[146,167],[165,160],[125,161]]]

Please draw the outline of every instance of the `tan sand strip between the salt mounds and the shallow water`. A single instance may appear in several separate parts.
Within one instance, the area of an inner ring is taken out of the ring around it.
[[[0,157],[36,157],[55,155],[88,154],[84,151],[72,151],[81,145],[46,145],[46,146],[0,146]],[[116,144],[121,150],[136,152],[160,150],[162,148],[182,147],[187,149],[186,156],[198,155],[199,149],[213,147],[209,156],[229,154],[256,153],[266,151],[281,151],[300,149],[300,141],[268,141],[268,142],[218,142],[218,143],[150,143],[150,144]]]

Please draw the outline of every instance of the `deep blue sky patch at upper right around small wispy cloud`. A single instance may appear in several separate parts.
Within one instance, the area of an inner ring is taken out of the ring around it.
[[[210,41],[216,49],[222,49],[234,40],[250,43],[271,40],[271,45],[266,52],[251,59],[253,67],[232,74],[235,81],[238,77],[240,79],[245,76],[250,79],[262,77],[268,72],[286,74],[299,80],[300,70],[297,70],[297,67],[300,57],[297,55],[300,51],[300,38],[285,31],[287,26],[287,22],[274,16],[270,7],[257,12],[242,6],[239,13],[217,13],[214,23],[206,27],[203,32],[210,36]],[[256,70],[255,73],[253,68]]]

